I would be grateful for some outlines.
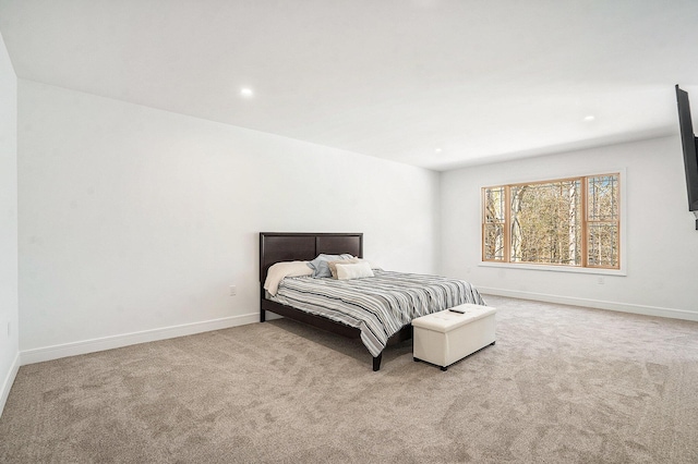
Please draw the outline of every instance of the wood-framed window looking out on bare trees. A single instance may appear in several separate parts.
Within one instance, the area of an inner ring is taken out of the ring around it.
[[[482,190],[482,260],[619,269],[619,174]]]

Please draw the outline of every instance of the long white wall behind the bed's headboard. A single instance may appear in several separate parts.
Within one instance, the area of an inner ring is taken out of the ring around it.
[[[24,80],[19,107],[23,364],[258,320],[260,231],[436,270],[435,172]]]

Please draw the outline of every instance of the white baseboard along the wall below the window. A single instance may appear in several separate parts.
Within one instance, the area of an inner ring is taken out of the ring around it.
[[[558,303],[570,306],[585,306],[597,309],[617,310],[621,313],[641,314],[645,316],[658,316],[667,317],[671,319],[698,321],[698,312],[690,312],[685,309],[662,308],[658,306],[634,305],[629,303],[615,303],[601,300],[588,300],[574,296],[549,295],[545,293],[520,292],[516,290],[492,289],[482,286],[478,286],[478,291],[484,295],[508,296],[512,298],[534,300],[539,302]]]

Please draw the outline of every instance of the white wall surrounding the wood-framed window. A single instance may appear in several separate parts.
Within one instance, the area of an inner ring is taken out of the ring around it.
[[[480,188],[626,169],[627,276],[480,265]],[[442,272],[486,292],[698,320],[698,231],[678,136],[480,166],[442,175]]]

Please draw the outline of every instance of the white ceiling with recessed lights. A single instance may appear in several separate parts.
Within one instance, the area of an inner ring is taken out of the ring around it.
[[[0,0],[0,32],[21,78],[435,170],[698,108],[697,0]]]

